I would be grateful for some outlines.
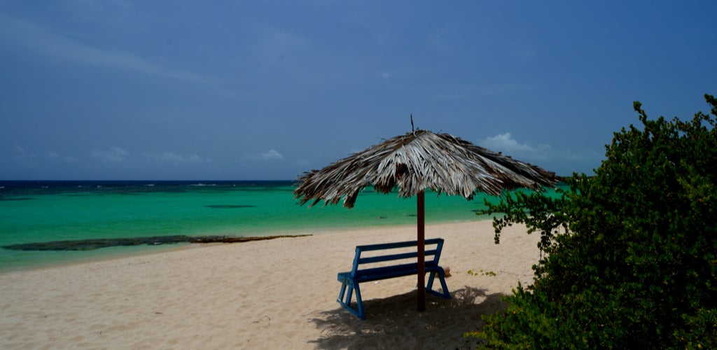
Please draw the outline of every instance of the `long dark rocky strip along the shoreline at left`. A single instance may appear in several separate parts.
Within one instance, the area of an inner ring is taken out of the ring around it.
[[[17,245],[4,245],[9,250],[95,250],[106,247],[120,247],[130,245],[165,245],[174,243],[238,243],[255,240],[273,240],[285,237],[305,237],[310,235],[275,235],[275,236],[156,236],[133,238],[100,238],[92,240],[64,240],[52,242],[22,243]]]

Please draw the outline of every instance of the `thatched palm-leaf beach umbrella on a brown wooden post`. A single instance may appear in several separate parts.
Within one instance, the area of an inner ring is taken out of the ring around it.
[[[424,190],[460,194],[473,199],[475,191],[498,195],[505,189],[541,190],[557,182],[554,173],[516,161],[509,156],[475,146],[447,133],[417,130],[390,138],[354,153],[321,170],[305,172],[294,195],[300,204],[321,200],[351,209],[366,186],[388,194],[399,188],[399,197],[417,196],[418,309],[425,309]]]

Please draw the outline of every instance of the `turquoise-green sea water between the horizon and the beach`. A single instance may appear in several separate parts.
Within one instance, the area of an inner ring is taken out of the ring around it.
[[[31,242],[168,235],[320,234],[415,224],[415,199],[366,189],[356,206],[309,209],[291,181],[0,181],[0,247]],[[483,198],[426,195],[426,222],[481,219]],[[495,199],[495,197],[492,197]],[[183,244],[87,251],[0,248],[0,271],[176,249]]]

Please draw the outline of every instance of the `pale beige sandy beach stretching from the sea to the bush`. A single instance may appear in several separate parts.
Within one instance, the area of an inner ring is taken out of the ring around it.
[[[445,238],[453,298],[416,278],[364,283],[367,320],[336,302],[356,245],[415,240],[413,226],[209,245],[0,275],[0,349],[473,349],[462,334],[530,283],[538,235],[493,243],[490,221],[429,225]],[[472,273],[469,273],[472,271]],[[493,275],[492,273],[495,273]],[[440,284],[437,284],[440,288]]]

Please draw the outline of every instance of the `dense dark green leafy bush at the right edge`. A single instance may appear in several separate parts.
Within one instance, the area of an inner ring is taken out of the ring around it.
[[[717,100],[711,115],[650,120],[614,133],[594,176],[556,199],[486,203],[506,225],[539,232],[533,285],[485,316],[488,347],[717,349]]]

